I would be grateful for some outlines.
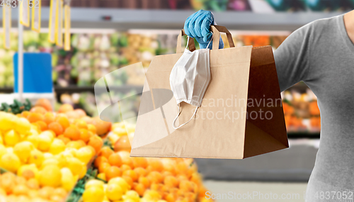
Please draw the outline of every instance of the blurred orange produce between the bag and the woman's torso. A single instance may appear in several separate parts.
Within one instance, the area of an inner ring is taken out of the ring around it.
[[[319,133],[321,118],[313,92],[308,90],[300,94],[297,91],[285,91],[282,95],[287,132]]]

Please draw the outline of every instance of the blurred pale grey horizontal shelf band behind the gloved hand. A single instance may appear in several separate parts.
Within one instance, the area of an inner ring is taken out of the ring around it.
[[[0,13],[2,10],[0,10]],[[190,14],[195,11],[138,10],[138,9],[92,9],[72,8],[72,28],[113,28],[127,30],[181,29]],[[330,18],[341,12],[276,12],[253,13],[251,11],[215,12],[217,23],[237,30],[296,30],[306,23],[320,18]],[[2,16],[2,14],[0,14]],[[110,20],[104,20],[108,18]],[[12,11],[13,21],[18,19],[18,9]],[[49,8],[42,8],[42,27],[47,28]],[[16,25],[15,23],[13,25]]]

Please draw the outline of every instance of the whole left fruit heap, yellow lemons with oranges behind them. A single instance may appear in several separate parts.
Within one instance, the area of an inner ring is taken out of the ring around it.
[[[35,201],[39,194],[46,196],[42,201],[62,201],[101,150],[103,140],[98,135],[107,133],[110,123],[86,116],[69,104],[57,113],[47,111],[50,107],[40,100],[30,111],[17,115],[0,112],[0,167],[24,179],[18,192],[6,189],[8,196]],[[29,191],[33,184],[36,189]],[[50,194],[57,189],[61,198]],[[38,194],[29,195],[32,192]]]

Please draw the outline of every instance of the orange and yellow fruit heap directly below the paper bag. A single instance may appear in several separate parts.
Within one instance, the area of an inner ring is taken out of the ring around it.
[[[130,157],[134,131],[135,125],[112,125],[93,162],[98,175],[86,183],[84,202],[212,201],[193,159]]]

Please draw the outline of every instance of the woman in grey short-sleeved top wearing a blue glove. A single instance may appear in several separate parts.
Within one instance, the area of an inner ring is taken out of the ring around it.
[[[185,33],[205,48],[210,11],[185,21]],[[354,11],[309,23],[274,52],[281,91],[303,81],[318,98],[321,140],[306,201],[354,201]],[[223,44],[220,43],[222,48]]]

